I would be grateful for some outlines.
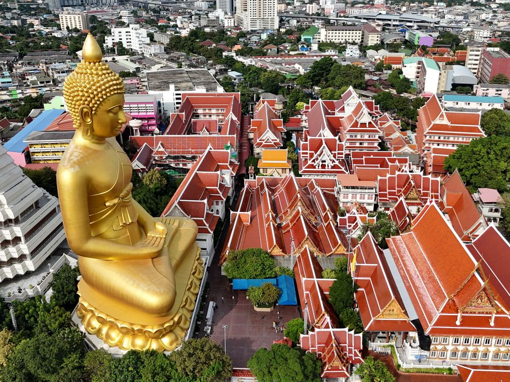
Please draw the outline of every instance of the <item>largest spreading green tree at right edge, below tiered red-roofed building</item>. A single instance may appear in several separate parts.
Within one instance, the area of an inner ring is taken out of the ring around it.
[[[510,137],[492,135],[461,145],[445,159],[444,168],[449,173],[457,169],[474,188],[505,192],[510,178]]]

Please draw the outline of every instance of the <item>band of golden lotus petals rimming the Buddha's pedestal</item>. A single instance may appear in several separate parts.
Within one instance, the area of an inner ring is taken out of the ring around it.
[[[181,345],[190,326],[202,276],[203,262],[198,249],[181,305],[171,318],[160,325],[118,320],[96,309],[81,296],[77,315],[88,333],[96,335],[109,346],[117,346],[122,350],[171,351]]]

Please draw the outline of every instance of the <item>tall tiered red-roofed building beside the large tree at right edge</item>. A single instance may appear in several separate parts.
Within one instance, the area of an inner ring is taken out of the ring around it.
[[[479,112],[445,111],[436,95],[418,110],[416,144],[427,174],[445,174],[443,166],[448,155],[459,145],[469,145],[471,140],[485,136]]]

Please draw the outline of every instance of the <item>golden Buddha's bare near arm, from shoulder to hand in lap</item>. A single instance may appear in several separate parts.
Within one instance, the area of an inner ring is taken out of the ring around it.
[[[57,173],[62,220],[69,247],[78,255],[103,260],[139,260],[155,257],[162,245],[120,244],[93,237],[87,200],[87,181],[79,172],[60,168]]]

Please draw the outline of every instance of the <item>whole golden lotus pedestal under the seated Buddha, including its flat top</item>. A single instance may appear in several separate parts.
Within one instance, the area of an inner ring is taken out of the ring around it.
[[[175,304],[165,316],[134,314],[129,307],[117,304],[112,307],[110,300],[80,280],[76,313],[87,333],[122,350],[171,351],[178,347],[190,326],[203,275],[200,248],[193,246],[190,251],[195,253],[188,253],[175,272]],[[130,321],[123,320],[124,317],[130,317]]]

